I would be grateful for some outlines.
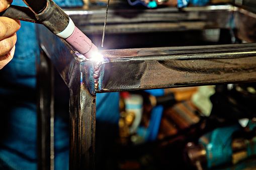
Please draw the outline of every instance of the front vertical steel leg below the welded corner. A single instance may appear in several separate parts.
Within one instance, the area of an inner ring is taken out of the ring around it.
[[[77,69],[88,69],[79,66]],[[69,169],[95,168],[96,96],[81,79],[82,72],[73,74],[69,99]]]

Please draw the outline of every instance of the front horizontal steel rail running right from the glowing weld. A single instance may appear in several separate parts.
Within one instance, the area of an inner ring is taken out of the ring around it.
[[[129,53],[131,51],[131,53]],[[123,53],[124,52],[124,53]],[[102,51],[109,58],[98,92],[256,81],[256,44]],[[123,54],[123,55],[120,55]]]

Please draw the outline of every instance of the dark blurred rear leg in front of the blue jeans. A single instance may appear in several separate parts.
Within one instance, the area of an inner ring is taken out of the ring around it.
[[[54,169],[54,96],[53,65],[49,58],[41,53],[37,62],[38,88],[38,169]]]

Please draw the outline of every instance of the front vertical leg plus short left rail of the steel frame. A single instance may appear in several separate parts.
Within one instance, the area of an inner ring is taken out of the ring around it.
[[[40,39],[53,42],[43,43],[41,47],[70,90],[69,169],[94,169],[96,95],[89,91],[94,90],[94,80],[89,79],[94,74],[93,63],[78,58],[53,34],[41,34]]]

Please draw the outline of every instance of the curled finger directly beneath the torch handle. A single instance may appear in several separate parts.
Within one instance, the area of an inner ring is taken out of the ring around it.
[[[0,17],[0,40],[10,37],[20,28],[21,22],[19,20],[13,20],[7,17]]]

